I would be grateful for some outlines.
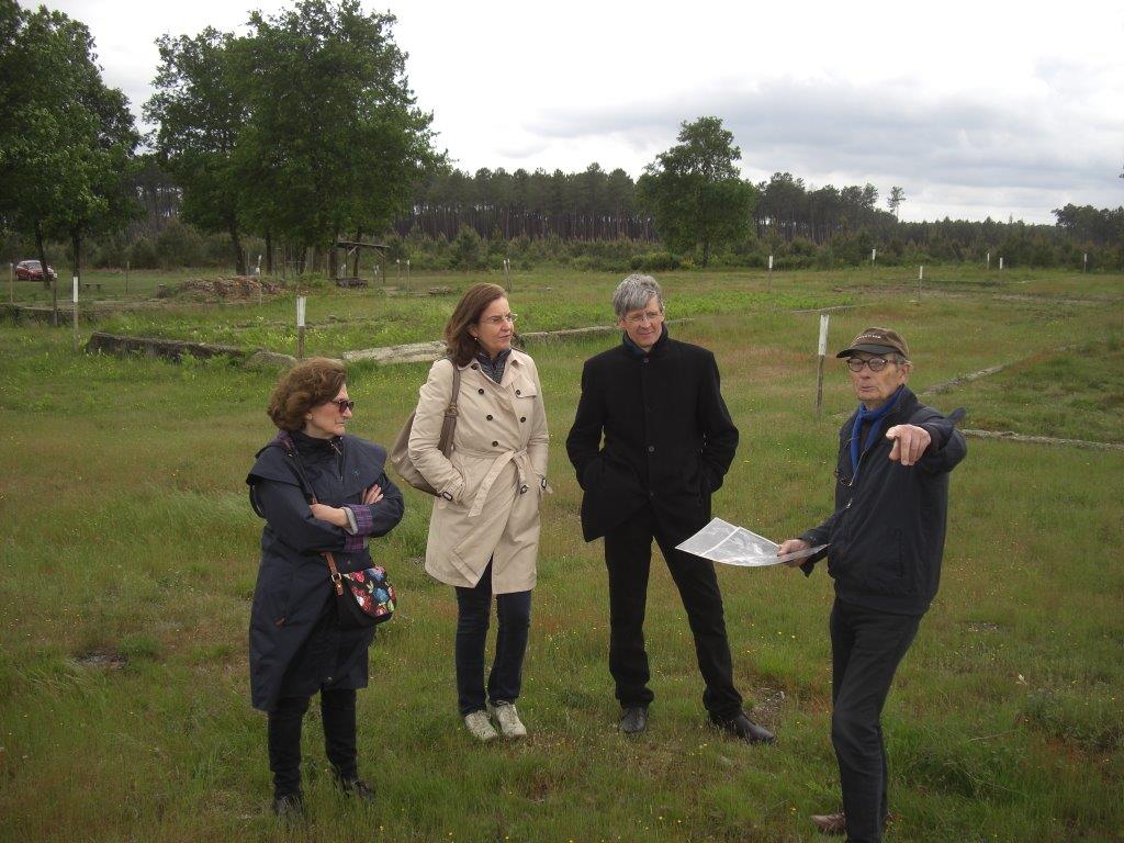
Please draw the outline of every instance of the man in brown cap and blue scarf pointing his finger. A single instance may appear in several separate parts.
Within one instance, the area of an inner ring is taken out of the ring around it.
[[[882,840],[888,813],[882,704],[936,595],[949,472],[968,448],[958,414],[945,418],[909,391],[909,347],[897,332],[867,328],[836,356],[846,359],[859,408],[840,429],[835,511],[778,554],[827,545],[786,562],[810,574],[827,556],[835,581],[832,744],[843,812],[813,821],[824,833],[869,843]]]

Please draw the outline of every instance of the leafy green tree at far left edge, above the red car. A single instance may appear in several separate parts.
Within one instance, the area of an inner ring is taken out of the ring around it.
[[[135,209],[126,180],[138,137],[96,60],[84,24],[0,0],[0,183],[18,185],[0,206],[35,237],[45,281],[47,234],[70,238],[76,274],[83,235],[118,227]],[[52,307],[57,324],[57,283]]]

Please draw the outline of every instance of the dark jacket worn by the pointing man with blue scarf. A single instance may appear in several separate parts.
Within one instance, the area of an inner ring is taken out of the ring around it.
[[[878,442],[860,459],[852,483],[854,418],[840,428],[835,513],[800,535],[814,546],[828,546],[805,563],[804,572],[812,573],[815,562],[826,555],[840,600],[898,615],[924,615],[941,581],[949,472],[964,459],[968,445],[952,419],[921,404],[904,387]],[[933,437],[912,466],[889,459],[894,443],[885,435],[905,424],[924,427]]]

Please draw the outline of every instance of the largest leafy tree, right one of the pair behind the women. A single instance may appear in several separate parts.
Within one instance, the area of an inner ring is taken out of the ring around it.
[[[359,0],[300,0],[251,15],[241,51],[252,119],[236,158],[247,218],[305,246],[382,230],[442,156],[415,105],[392,15]]]

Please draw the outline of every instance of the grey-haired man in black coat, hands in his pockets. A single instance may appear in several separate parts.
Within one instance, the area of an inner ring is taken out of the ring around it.
[[[734,687],[714,564],[676,550],[710,520],[710,496],[737,448],[714,354],[668,336],[660,285],[649,275],[622,281],[613,307],[624,336],[586,361],[566,451],[584,491],[586,541],[605,537],[609,671],[620,728],[643,732],[654,699],[644,649],[654,538],[687,610],[710,723],[751,743],[771,742],[772,734],[745,716]]]

